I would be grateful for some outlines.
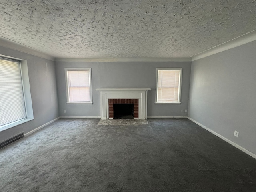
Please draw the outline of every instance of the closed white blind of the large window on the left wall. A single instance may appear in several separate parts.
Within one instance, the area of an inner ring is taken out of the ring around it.
[[[0,126],[25,118],[20,62],[0,58]]]

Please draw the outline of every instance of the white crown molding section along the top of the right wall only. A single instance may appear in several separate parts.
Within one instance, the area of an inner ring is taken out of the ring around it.
[[[215,46],[213,48],[210,48],[208,50],[205,50],[205,51],[203,51],[201,53],[198,53],[198,54],[192,56],[191,60],[195,61],[195,60],[198,60],[198,59],[202,59],[204,57],[208,57],[210,55],[213,55],[213,54],[216,54],[216,53],[220,53],[222,51],[226,51],[226,50],[238,47],[240,45],[243,45],[243,44],[246,44],[246,43],[250,43],[250,42],[255,41],[255,40],[256,40],[256,30],[254,30],[252,32],[249,32],[249,33],[246,33],[244,35],[241,35],[241,36],[239,36],[237,38],[229,40],[229,41],[227,41],[225,43],[217,45],[217,46]]]

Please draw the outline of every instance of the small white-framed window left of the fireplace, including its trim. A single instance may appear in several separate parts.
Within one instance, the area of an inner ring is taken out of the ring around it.
[[[67,104],[92,104],[91,68],[65,68]]]

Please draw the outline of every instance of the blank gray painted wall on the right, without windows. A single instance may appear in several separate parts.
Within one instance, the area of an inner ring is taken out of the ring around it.
[[[188,105],[190,118],[254,154],[255,50],[256,41],[193,61]]]

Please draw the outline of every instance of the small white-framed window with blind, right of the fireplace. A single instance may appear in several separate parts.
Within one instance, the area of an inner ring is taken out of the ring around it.
[[[182,68],[156,68],[156,104],[180,104]]]

